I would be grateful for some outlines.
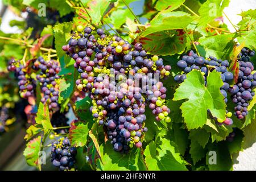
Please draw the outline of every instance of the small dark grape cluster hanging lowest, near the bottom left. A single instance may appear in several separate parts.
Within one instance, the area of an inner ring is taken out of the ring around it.
[[[61,171],[76,168],[76,147],[71,147],[68,138],[60,138],[52,143],[51,162]]]

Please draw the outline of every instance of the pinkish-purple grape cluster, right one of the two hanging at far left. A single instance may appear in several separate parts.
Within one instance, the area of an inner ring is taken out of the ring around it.
[[[59,98],[60,76],[57,75],[57,73],[60,72],[60,66],[58,61],[45,61],[43,57],[38,57],[38,59],[34,61],[32,68],[40,71],[40,73],[36,75],[36,80],[39,80],[43,93],[41,102],[46,104],[48,100],[49,109],[59,110],[57,101]]]

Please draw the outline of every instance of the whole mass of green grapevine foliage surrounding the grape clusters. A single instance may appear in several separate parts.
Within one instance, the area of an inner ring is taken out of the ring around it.
[[[242,12],[241,22],[234,25],[236,32],[230,32],[221,20],[229,0],[146,1],[143,13],[137,16],[134,16],[131,8],[126,7],[130,7],[132,2],[134,1],[6,0],[5,3],[13,6],[17,14],[26,6],[36,12],[39,10],[39,3],[46,3],[47,10],[57,12],[61,18],[75,15],[71,17],[72,21],[57,19],[53,23],[45,22],[47,25],[40,30],[39,35],[42,39],[30,36],[32,28],[26,27],[26,20],[25,23],[12,22],[24,31],[22,34],[0,32],[0,71],[7,72],[7,61],[11,58],[22,60],[26,65],[31,65],[39,55],[59,61],[60,111],[70,107],[69,112],[76,117],[68,126],[68,133],[63,135],[77,148],[77,169],[232,169],[234,154],[251,144],[249,135],[255,130],[256,97],[250,102],[249,114],[244,119],[234,118],[232,126],[217,125],[209,117],[209,111],[212,117],[220,120],[225,120],[226,110],[234,112],[230,109],[232,100],[229,98],[225,104],[224,96],[220,92],[223,85],[220,73],[209,72],[206,86],[200,71],[188,73],[187,79],[181,84],[174,81],[174,76],[180,72],[176,65],[179,57],[191,49],[200,56],[227,59],[233,65],[229,71],[236,74],[234,67],[238,67],[239,56],[234,47],[242,44],[243,47],[255,49],[255,10]],[[145,23],[141,23],[143,19]],[[166,102],[171,109],[171,122],[158,122],[146,110],[148,132],[142,137],[142,148],[133,148],[128,154],[115,152],[106,138],[104,127],[99,126],[90,113],[92,100],[76,89],[76,80],[80,76],[73,66],[75,61],[63,51],[63,46],[68,44],[72,33],[77,34],[76,28],[80,25],[82,28],[85,25],[92,27],[93,30],[102,27],[105,32],[121,36],[131,44],[141,42],[148,53],[162,57],[164,64],[172,66],[170,76],[164,81],[167,88]],[[255,57],[252,59],[255,61]],[[27,73],[35,77],[35,73],[30,70]],[[1,77],[1,87],[5,79]],[[236,84],[235,80],[233,84]],[[40,102],[41,94],[39,89],[36,94],[38,98],[30,98],[28,101],[38,109],[36,113],[30,110],[28,114],[28,117],[32,115],[34,123],[27,129],[24,139],[28,143],[23,153],[27,163],[39,169],[38,153],[44,150],[46,140],[57,139],[61,135],[56,133],[60,127],[53,127],[51,123],[54,111],[49,109],[48,104]],[[1,94],[0,99],[2,97]],[[230,142],[232,133],[236,135],[233,142]],[[209,163],[209,151],[216,151],[217,165]]]

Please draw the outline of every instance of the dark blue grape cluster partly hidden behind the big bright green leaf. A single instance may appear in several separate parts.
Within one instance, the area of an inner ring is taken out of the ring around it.
[[[188,51],[187,55],[182,56],[182,59],[177,62],[177,66],[182,69],[181,75],[176,75],[174,77],[174,80],[179,83],[183,82],[187,78],[186,74],[191,72],[193,69],[201,71],[205,80],[205,85],[207,84],[207,76],[210,71],[215,69],[217,72],[221,72],[221,79],[223,81],[223,85],[220,88],[220,92],[225,97],[224,101],[228,102],[227,91],[230,89],[229,84],[234,78],[233,73],[228,71],[228,60],[222,61],[221,59],[217,59],[213,56],[209,56],[209,58],[204,59],[204,57],[198,56],[195,52],[191,50]],[[223,122],[225,123],[225,125],[232,125],[233,121],[230,118],[231,116],[232,113],[226,111],[226,119],[224,121],[220,121],[220,119],[214,117],[211,118],[218,121],[217,123]]]

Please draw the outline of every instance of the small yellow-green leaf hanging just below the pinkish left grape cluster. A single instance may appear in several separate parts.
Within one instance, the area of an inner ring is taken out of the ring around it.
[[[42,125],[45,133],[52,129],[52,124],[49,118],[49,109],[47,104],[40,102],[38,113],[36,114],[35,121],[37,124]]]

